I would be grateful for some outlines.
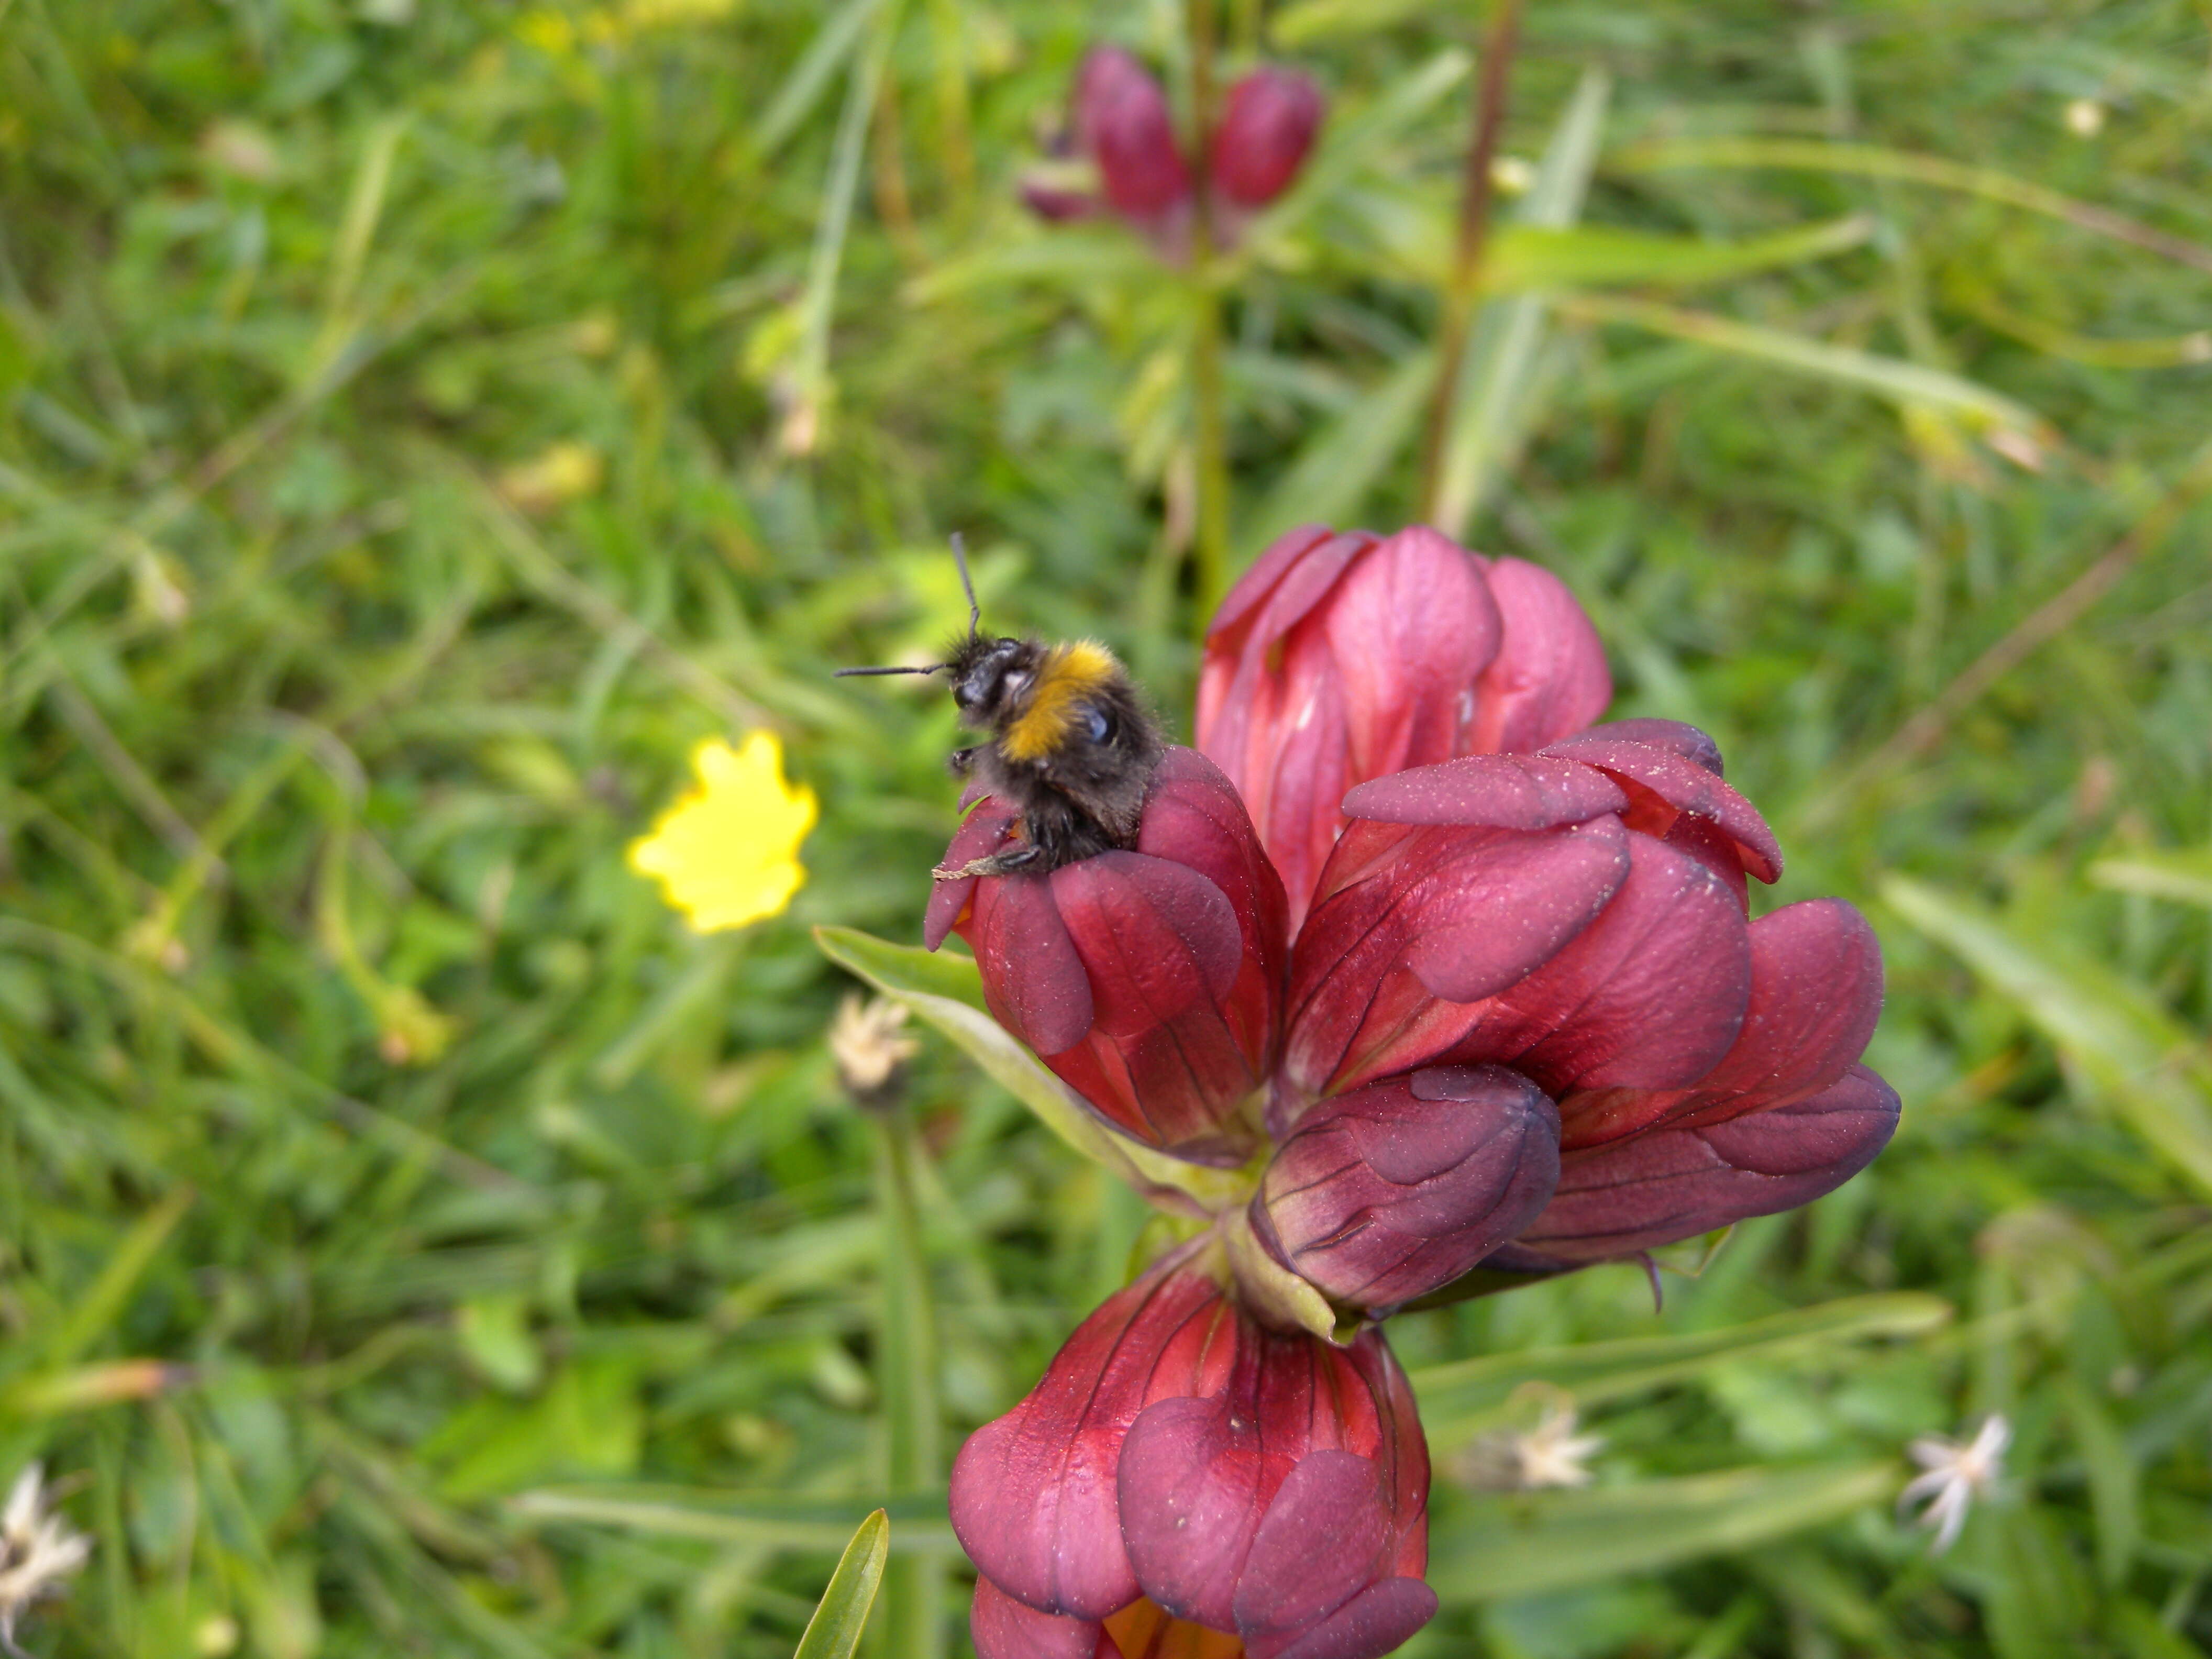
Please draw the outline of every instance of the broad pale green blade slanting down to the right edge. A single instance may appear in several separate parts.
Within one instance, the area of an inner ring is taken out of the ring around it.
[[[1907,876],[1889,876],[1882,900],[2017,1004],[2079,1068],[2093,1099],[2212,1192],[2212,1064],[2150,991]]]

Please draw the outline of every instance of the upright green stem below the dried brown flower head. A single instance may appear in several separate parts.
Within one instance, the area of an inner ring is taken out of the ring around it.
[[[876,1203],[883,1212],[883,1354],[876,1367],[885,1416],[885,1478],[891,1495],[933,1493],[945,1478],[938,1411],[938,1329],[929,1256],[914,1199],[920,1157],[905,1104],[876,1117]],[[945,1652],[945,1564],[936,1555],[894,1557],[883,1579],[889,1659]]]

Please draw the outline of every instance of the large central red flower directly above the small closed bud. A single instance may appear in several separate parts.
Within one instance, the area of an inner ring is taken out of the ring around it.
[[[1750,1002],[1741,887],[1714,874],[1719,854],[1624,827],[1630,805],[1564,754],[1478,754],[1352,790],[1354,827],[1292,953],[1276,1124],[1431,1062],[1513,1066],[1555,1099],[1712,1071]],[[1736,832],[1765,836],[1743,812]]]

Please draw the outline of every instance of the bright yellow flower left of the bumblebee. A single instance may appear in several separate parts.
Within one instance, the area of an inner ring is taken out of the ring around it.
[[[630,869],[701,933],[776,916],[805,883],[799,843],[814,827],[814,790],[783,781],[783,745],[752,732],[741,750],[710,739],[692,750],[699,787],[630,843]]]

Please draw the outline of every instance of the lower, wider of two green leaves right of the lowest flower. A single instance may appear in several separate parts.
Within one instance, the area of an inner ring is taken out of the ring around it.
[[[1478,1498],[1429,1551],[1429,1584],[1444,1601],[1489,1601],[1652,1573],[1840,1520],[1898,1480],[1896,1464],[1871,1462]]]

